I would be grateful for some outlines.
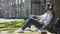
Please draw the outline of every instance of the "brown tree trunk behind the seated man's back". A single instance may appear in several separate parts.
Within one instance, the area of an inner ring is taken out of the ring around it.
[[[49,32],[53,32],[55,20],[58,16],[60,16],[60,0],[52,0],[52,3],[53,3],[53,11],[55,12],[55,19],[52,22],[53,24],[51,24],[47,28]]]

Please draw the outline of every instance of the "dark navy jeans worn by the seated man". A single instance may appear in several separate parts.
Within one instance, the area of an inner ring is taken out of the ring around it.
[[[30,27],[31,24],[33,24],[38,29],[40,29],[43,26],[43,24],[40,24],[36,20],[29,18],[26,24],[22,26],[22,29],[24,30],[26,27]]]

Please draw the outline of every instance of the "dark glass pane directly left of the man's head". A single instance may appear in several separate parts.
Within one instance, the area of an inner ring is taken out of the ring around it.
[[[32,0],[32,15],[44,13],[44,0]]]

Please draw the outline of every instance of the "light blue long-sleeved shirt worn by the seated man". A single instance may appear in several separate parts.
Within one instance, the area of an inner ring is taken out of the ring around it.
[[[41,16],[38,16],[38,19],[40,19],[40,21],[44,21],[44,25],[47,25],[50,23],[50,21],[52,20],[53,18],[53,14],[52,14],[52,11],[48,10],[46,13],[44,13],[43,15]]]

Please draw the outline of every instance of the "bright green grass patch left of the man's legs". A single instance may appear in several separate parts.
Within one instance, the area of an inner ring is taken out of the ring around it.
[[[20,28],[23,24],[25,23],[25,20],[21,21],[11,21],[11,22],[6,22],[6,23],[1,23],[0,24],[0,31],[5,31],[5,30],[15,30],[15,28]]]

